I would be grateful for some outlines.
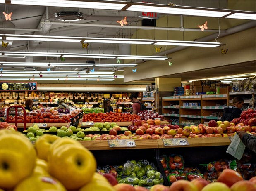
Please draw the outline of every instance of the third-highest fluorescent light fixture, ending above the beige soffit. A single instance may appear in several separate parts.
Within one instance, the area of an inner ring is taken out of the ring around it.
[[[145,59],[145,60],[167,60],[169,57],[161,56],[135,56],[119,54],[79,54],[79,53],[54,53],[54,52],[10,52],[2,51],[2,55],[11,56],[40,56],[40,57],[76,57],[76,58],[106,58],[106,59]]]

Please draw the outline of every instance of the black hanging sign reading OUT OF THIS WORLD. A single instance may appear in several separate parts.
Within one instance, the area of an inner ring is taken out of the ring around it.
[[[0,90],[3,91],[35,91],[36,82],[0,82]]]

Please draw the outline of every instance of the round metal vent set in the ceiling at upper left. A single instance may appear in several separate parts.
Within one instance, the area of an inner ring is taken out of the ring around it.
[[[55,17],[60,21],[79,21],[84,19],[84,14],[78,11],[60,11],[55,13]]]

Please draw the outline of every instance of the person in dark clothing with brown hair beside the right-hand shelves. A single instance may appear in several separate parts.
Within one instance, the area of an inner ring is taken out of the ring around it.
[[[232,121],[234,118],[239,118],[242,113],[242,107],[244,104],[244,99],[242,97],[234,97],[233,106],[226,107],[223,110],[223,116],[221,121]]]

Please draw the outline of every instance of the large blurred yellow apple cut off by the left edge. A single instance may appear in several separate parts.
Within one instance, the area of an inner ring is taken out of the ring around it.
[[[12,189],[33,173],[36,151],[21,133],[0,130],[0,188]]]

